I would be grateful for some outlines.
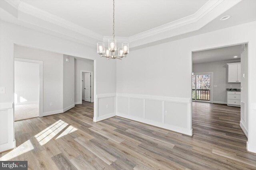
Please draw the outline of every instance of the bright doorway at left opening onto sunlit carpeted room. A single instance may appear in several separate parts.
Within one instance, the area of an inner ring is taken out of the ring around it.
[[[14,121],[42,114],[42,62],[14,59]]]

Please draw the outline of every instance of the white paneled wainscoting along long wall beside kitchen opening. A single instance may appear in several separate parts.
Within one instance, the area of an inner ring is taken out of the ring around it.
[[[116,94],[116,98],[117,116],[193,135],[191,101],[188,98],[120,93]]]

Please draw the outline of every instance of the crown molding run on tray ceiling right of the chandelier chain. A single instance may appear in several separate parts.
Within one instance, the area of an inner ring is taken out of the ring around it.
[[[178,36],[182,37],[182,35],[186,33],[198,31],[241,1],[242,0],[209,0],[191,16],[130,36],[130,48],[144,48],[147,44],[156,45],[164,43],[168,41],[168,39]]]

